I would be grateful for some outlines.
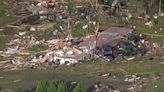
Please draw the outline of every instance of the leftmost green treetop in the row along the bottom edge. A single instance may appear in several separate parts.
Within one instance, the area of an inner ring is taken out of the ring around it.
[[[40,80],[38,85],[37,85],[36,92],[46,92],[47,91],[47,86],[48,86],[47,81]]]

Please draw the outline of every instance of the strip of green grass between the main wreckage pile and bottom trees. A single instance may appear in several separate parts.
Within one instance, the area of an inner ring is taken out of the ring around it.
[[[124,70],[124,71],[122,71]],[[125,72],[126,71],[126,72]],[[65,81],[82,81],[85,87],[101,81],[103,83],[114,85],[119,88],[126,86],[126,83],[121,80],[108,80],[96,77],[98,72],[111,73],[118,77],[123,74],[138,73],[141,75],[149,75],[154,73],[164,73],[164,65],[159,64],[158,61],[145,61],[139,63],[137,61],[130,61],[125,63],[86,63],[76,65],[75,67],[61,66],[56,69],[50,68],[47,70],[22,70],[22,71],[8,71],[0,72],[0,87],[3,89],[16,89],[16,88],[32,88],[35,87],[39,80],[65,80]],[[121,78],[121,77],[120,77]],[[20,80],[20,82],[13,82]],[[162,84],[159,82],[159,85]],[[160,86],[159,86],[160,88]],[[160,88],[162,89],[162,87]],[[159,89],[159,90],[160,90]],[[149,87],[147,88],[149,90]],[[150,91],[143,92],[150,92]],[[124,91],[123,91],[124,92]],[[126,91],[125,91],[126,92]],[[152,91],[155,92],[155,91]],[[156,91],[161,92],[161,91]]]

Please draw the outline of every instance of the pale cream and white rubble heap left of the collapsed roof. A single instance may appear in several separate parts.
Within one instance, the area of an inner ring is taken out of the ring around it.
[[[28,62],[40,62],[56,65],[70,65],[78,63],[84,60],[85,54],[82,51],[75,48],[64,47],[63,49],[57,49],[48,51],[45,54],[30,56]]]

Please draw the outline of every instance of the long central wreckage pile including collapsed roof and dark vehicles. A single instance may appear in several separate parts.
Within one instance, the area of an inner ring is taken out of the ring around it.
[[[15,54],[39,44],[49,47],[45,51],[40,51],[39,54],[23,57],[21,64],[19,59],[12,61],[13,64],[21,66],[31,66],[31,64],[38,66],[44,63],[48,65],[71,65],[96,57],[111,61],[119,55],[123,57],[137,54],[144,55],[147,51],[144,38],[134,35],[132,32],[133,30],[129,28],[111,27],[108,30],[98,32],[97,35],[47,41],[39,41],[33,36],[23,36],[23,39],[19,38],[11,41],[8,44],[10,48],[7,49],[6,53]]]

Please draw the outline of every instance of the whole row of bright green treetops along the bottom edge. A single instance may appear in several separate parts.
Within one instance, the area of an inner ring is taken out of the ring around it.
[[[63,81],[46,81],[40,80],[34,91],[26,91],[23,89],[17,89],[16,92],[86,92],[82,82],[76,83],[74,86],[67,85]]]

